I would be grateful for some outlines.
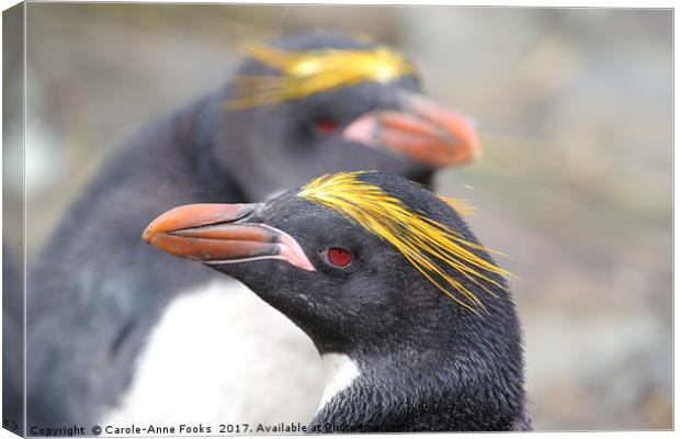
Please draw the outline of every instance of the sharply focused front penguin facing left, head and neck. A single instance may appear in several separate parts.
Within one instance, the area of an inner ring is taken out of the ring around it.
[[[313,339],[329,376],[311,431],[530,428],[507,272],[442,200],[344,172],[249,206],[177,207],[144,239],[242,281]]]

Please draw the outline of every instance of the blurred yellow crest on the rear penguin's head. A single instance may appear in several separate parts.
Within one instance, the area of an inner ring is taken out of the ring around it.
[[[247,44],[242,49],[281,75],[237,77],[237,97],[226,102],[227,110],[301,99],[362,81],[387,83],[416,72],[404,56],[383,46],[284,52],[264,44]]]

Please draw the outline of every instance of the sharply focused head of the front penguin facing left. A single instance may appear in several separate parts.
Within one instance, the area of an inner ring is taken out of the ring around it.
[[[321,353],[418,347],[442,331],[505,337],[499,320],[514,315],[507,272],[462,217],[393,175],[339,172],[264,203],[177,207],[144,239],[242,281]]]

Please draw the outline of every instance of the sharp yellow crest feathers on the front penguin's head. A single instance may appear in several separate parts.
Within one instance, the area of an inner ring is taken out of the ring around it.
[[[362,181],[362,173],[365,171],[320,177],[305,184],[297,195],[340,213],[392,244],[439,290],[475,313],[484,305],[447,268],[494,296],[483,281],[505,290],[487,274],[511,274],[472,250],[496,251],[469,243],[447,226],[412,212],[378,185]]]

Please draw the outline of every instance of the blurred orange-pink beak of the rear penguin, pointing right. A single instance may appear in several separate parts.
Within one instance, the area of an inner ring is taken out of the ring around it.
[[[481,155],[469,117],[421,94],[401,92],[398,99],[399,110],[369,112],[344,128],[342,136],[432,168],[465,165]]]

